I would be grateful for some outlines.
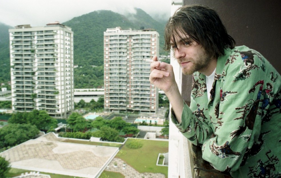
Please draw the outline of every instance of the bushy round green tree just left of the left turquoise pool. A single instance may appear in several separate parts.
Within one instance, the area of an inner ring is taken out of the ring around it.
[[[66,121],[69,127],[74,132],[79,132],[79,131],[82,132],[88,126],[86,119],[83,116],[81,116],[79,113],[72,113]]]

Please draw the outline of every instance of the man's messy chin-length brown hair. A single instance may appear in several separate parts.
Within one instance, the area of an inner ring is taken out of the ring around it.
[[[180,37],[179,32],[189,38]],[[220,17],[213,9],[204,5],[187,5],[180,7],[168,20],[165,30],[165,50],[170,50],[170,42],[175,45],[175,36],[180,37],[184,43],[193,39],[209,53],[210,56],[224,55],[224,49],[235,47],[234,39],[228,35]]]

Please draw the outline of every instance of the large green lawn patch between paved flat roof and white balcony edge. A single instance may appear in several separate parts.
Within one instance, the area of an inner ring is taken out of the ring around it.
[[[168,141],[142,140],[143,146],[139,149],[130,149],[125,145],[116,155],[140,173],[162,173],[168,177],[168,167],[157,166],[159,153],[168,152]]]

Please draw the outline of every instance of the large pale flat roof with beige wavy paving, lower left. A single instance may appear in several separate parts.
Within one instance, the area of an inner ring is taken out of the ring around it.
[[[61,142],[54,133],[28,140],[0,155],[11,167],[40,172],[95,177],[119,151],[117,147]]]

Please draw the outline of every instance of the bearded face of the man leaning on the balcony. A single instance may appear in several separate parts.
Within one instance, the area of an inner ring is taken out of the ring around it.
[[[196,71],[204,73],[211,57],[202,45],[193,39],[188,39],[188,35],[180,31],[178,34],[179,36],[175,35],[176,44],[173,44],[172,41],[170,44],[174,50],[174,56],[182,68],[182,73],[185,75],[190,75]],[[185,41],[190,41],[190,43]]]

